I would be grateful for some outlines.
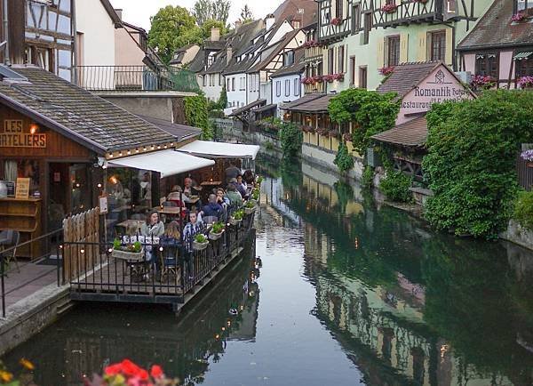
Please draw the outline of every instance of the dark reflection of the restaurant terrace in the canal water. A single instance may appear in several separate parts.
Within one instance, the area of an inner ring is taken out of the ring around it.
[[[146,305],[121,307],[120,312],[81,305],[12,352],[13,363],[7,365],[16,368],[16,358],[28,358],[39,365],[37,384],[79,385],[83,375],[131,358],[140,366],[161,364],[183,384],[202,383],[210,363],[223,357],[227,342],[255,340],[260,268],[260,259],[243,257],[179,319],[166,308]]]

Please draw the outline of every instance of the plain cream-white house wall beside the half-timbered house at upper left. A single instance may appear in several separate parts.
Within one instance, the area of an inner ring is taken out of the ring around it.
[[[76,30],[84,34],[78,66],[115,66],[115,23],[99,0],[76,0]]]

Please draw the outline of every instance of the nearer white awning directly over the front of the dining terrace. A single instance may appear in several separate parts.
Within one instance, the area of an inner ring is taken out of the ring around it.
[[[161,173],[161,178],[186,173],[205,166],[215,165],[212,159],[189,156],[173,149],[154,151],[109,161],[111,166],[119,165],[135,169],[151,170]]]

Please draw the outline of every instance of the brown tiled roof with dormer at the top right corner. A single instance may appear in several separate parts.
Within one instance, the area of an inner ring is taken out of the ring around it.
[[[481,47],[533,45],[533,24],[513,22],[513,0],[496,0],[457,50]]]

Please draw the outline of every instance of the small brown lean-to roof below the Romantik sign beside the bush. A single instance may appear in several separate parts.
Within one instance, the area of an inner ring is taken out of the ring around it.
[[[422,147],[427,139],[426,117],[416,117],[383,133],[373,135],[376,141],[407,147]]]

